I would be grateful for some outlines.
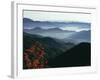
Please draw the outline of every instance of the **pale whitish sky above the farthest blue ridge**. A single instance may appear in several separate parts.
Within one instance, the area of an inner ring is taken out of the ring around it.
[[[40,12],[40,11],[24,11],[25,18],[35,21],[60,21],[60,22],[91,22],[91,14],[82,13],[59,13],[59,12]]]

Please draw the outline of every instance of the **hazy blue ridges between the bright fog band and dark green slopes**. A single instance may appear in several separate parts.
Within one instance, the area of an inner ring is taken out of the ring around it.
[[[52,29],[42,29],[42,28],[34,28],[34,29],[25,29],[24,32],[29,34],[37,34],[44,37],[52,37],[62,39],[65,42],[67,41],[75,41],[78,42],[90,42],[91,41],[91,31],[67,31],[61,30],[59,28],[52,28]]]

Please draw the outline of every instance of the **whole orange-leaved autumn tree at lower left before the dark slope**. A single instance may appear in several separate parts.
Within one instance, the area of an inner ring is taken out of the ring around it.
[[[47,64],[42,44],[35,42],[30,48],[25,49],[23,53],[24,69],[46,68]]]

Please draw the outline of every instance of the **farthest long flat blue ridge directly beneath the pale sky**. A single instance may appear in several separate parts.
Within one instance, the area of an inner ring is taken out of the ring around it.
[[[62,27],[62,26],[79,26],[84,28],[89,28],[90,23],[83,23],[83,22],[50,22],[50,21],[33,21],[29,18],[23,18],[23,26],[24,29],[27,28],[35,28],[35,27]]]

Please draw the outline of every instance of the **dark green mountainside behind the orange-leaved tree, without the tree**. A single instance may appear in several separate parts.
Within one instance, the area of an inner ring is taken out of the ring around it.
[[[69,50],[74,46],[74,43],[65,43],[59,39],[28,34],[25,32],[23,35],[23,40],[24,50],[30,48],[34,43],[40,43],[41,46],[44,47],[46,57],[48,59],[55,58],[56,56],[62,54],[65,50]]]

